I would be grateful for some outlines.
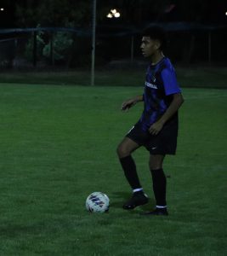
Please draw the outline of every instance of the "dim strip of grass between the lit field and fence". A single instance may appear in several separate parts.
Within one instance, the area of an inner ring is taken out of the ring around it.
[[[227,67],[176,67],[181,87],[227,89]],[[145,68],[95,71],[95,84],[101,86],[139,86],[144,84]],[[90,70],[30,71],[0,73],[2,83],[90,84]]]

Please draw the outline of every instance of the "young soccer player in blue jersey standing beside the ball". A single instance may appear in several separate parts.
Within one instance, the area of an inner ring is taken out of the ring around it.
[[[139,121],[128,131],[117,148],[125,177],[133,189],[132,198],[123,205],[130,210],[144,205],[148,198],[139,183],[136,166],[132,158],[134,150],[144,146],[150,152],[150,172],[156,198],[156,209],[142,214],[167,215],[167,179],[162,169],[166,154],[175,154],[178,137],[178,109],[184,102],[176,74],[169,59],[162,53],[166,43],[165,32],[159,26],[145,30],[142,38],[142,54],[150,59],[145,77],[145,90],[122,103],[128,110],[138,102],[144,102],[144,111]]]

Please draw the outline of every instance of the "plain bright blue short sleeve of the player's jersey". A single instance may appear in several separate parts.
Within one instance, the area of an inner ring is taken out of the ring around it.
[[[164,68],[161,76],[166,96],[181,92],[176,78],[176,73],[173,69],[170,70],[168,68]]]

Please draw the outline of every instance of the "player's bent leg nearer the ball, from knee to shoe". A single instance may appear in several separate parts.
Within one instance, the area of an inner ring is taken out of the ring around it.
[[[135,143],[131,138],[125,137],[122,143],[117,147],[117,154],[122,165],[125,177],[133,189],[132,198],[123,205],[123,209],[130,210],[134,207],[144,205],[148,202],[147,196],[144,194],[143,188],[139,183],[139,177],[136,171],[136,165],[132,157],[134,150],[139,148],[139,144]]]

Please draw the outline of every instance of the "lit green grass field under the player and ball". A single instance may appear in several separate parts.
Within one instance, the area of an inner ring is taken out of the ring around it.
[[[0,255],[226,255],[227,90],[183,90],[166,218],[139,216],[154,206],[143,148],[134,158],[150,204],[122,210],[130,189],[116,146],[142,105],[120,106],[141,90],[0,84]],[[110,212],[86,212],[99,190]]]

